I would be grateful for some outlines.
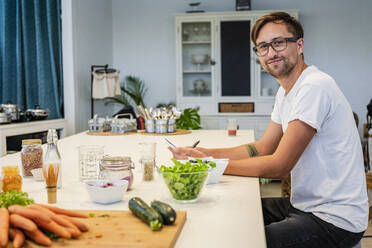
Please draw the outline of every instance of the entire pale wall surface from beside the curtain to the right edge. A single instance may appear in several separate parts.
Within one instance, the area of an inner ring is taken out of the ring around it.
[[[365,122],[366,105],[372,97],[372,79],[368,75],[372,1],[251,1],[254,10],[300,11],[305,29],[305,61],[336,79],[352,109]],[[120,69],[121,80],[129,74],[139,76],[149,87],[145,101],[150,106],[175,101],[174,14],[188,10],[191,0],[72,2],[76,131],[85,130],[90,118],[91,64],[113,64]],[[235,0],[204,0],[201,8],[233,11]]]

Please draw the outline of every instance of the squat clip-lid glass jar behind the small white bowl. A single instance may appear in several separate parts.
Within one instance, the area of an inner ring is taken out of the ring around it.
[[[104,156],[100,164],[100,179],[127,180],[128,189],[133,183],[134,164],[130,157],[126,156]]]

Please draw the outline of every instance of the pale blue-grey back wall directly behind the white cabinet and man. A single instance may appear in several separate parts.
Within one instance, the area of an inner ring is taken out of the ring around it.
[[[174,14],[185,0],[112,0],[114,65],[149,86],[146,102],[175,101]],[[251,0],[252,9],[298,9],[305,29],[305,60],[333,76],[365,122],[372,97],[370,0]],[[206,11],[233,11],[235,0],[204,0]],[[361,129],[361,127],[360,127]]]

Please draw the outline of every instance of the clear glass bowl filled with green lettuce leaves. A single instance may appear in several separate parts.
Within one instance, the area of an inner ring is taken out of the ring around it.
[[[182,163],[172,159],[174,166],[162,165],[159,173],[163,178],[172,198],[180,203],[196,202],[207,182],[211,168],[216,166],[213,162]]]

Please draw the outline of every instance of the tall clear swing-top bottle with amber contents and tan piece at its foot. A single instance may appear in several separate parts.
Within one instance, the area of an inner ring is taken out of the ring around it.
[[[57,131],[48,130],[47,151],[44,158],[43,174],[48,192],[48,203],[57,202],[57,187],[61,188],[61,156],[57,148]]]

